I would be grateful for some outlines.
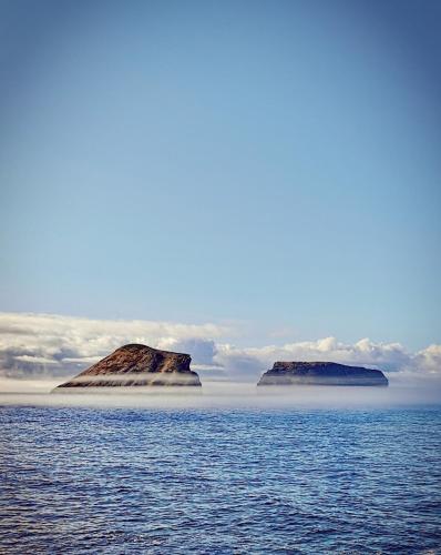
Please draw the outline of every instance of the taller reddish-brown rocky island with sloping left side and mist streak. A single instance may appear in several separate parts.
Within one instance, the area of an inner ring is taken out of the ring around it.
[[[116,349],[114,353],[55,390],[139,385],[201,386],[199,376],[189,370],[191,360],[189,354],[160,351],[134,343]]]

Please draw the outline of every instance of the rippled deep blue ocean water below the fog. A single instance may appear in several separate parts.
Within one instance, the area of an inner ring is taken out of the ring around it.
[[[441,553],[441,410],[0,410],[0,552]]]

